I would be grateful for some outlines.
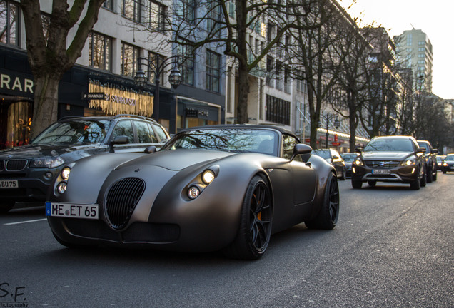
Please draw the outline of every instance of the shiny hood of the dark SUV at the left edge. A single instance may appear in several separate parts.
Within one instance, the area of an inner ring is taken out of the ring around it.
[[[44,156],[58,157],[66,153],[73,153],[75,151],[84,152],[85,150],[91,150],[98,148],[99,143],[90,144],[69,144],[69,143],[42,143],[36,145],[24,145],[21,147],[10,148],[0,151],[0,159],[6,158],[19,158],[19,159],[30,159],[30,158],[41,158]],[[12,156],[10,156],[12,155]],[[88,155],[88,154],[87,154]],[[81,157],[87,156],[81,154]]]

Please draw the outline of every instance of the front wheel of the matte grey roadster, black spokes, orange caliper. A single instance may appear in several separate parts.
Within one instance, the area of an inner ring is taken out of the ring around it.
[[[224,254],[242,260],[260,258],[270,242],[272,220],[273,203],[268,182],[256,175],[244,196],[236,238],[223,250]]]

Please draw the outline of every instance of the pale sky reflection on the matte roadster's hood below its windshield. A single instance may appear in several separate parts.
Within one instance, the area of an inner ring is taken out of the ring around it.
[[[191,165],[225,158],[233,154],[235,153],[216,150],[165,150],[143,155],[118,166],[118,168],[128,168],[136,165],[156,165],[168,170],[183,170]]]

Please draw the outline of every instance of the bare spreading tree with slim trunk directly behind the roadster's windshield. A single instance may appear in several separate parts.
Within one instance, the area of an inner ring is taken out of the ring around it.
[[[256,0],[201,0],[198,12],[188,8],[188,1],[178,0],[175,19],[171,23],[172,40],[178,46],[191,46],[193,50],[214,44],[223,48],[226,56],[236,63],[238,81],[237,123],[248,123],[249,74],[276,46],[290,29],[316,29],[319,25],[299,22],[312,4],[318,0],[256,1]],[[198,13],[203,12],[199,16]],[[251,46],[248,34],[257,31],[263,45]]]

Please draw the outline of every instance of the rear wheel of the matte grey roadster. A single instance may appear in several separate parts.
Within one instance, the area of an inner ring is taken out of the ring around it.
[[[330,173],[325,188],[323,204],[314,220],[305,222],[310,229],[332,230],[339,217],[339,185],[336,176]]]

